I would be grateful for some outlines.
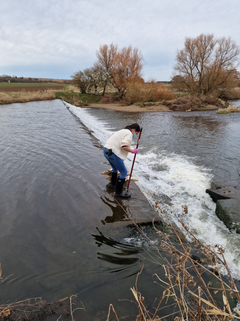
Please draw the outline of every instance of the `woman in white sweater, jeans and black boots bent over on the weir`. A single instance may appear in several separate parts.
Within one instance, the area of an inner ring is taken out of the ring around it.
[[[127,169],[124,165],[124,160],[129,152],[133,154],[138,153],[137,148],[131,149],[130,146],[132,144],[133,137],[135,137],[139,132],[140,126],[137,123],[126,126],[124,129],[113,134],[104,146],[104,156],[113,168],[111,183],[112,188],[116,187],[115,196],[117,197],[128,198],[131,196],[130,193],[123,192],[123,185],[127,176]],[[118,170],[120,172],[120,176],[117,178]]]

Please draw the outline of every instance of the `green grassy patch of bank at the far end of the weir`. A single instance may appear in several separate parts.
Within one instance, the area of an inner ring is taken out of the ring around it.
[[[100,97],[94,94],[81,94],[80,92],[74,91],[56,91],[56,98],[61,98],[71,105],[82,107],[88,106],[89,104],[99,103]]]

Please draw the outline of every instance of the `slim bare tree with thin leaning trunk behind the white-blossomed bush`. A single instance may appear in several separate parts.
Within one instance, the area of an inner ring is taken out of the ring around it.
[[[113,42],[110,45],[100,45],[99,50],[96,51],[97,63],[99,68],[104,74],[112,74],[114,68],[114,57],[117,52],[117,45],[114,45]],[[106,79],[102,96],[105,95],[108,79]]]

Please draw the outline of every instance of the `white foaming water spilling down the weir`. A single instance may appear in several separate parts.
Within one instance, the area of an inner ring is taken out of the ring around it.
[[[102,145],[113,134],[106,123],[91,116],[86,108],[65,104]],[[125,161],[128,169],[131,168],[132,161],[133,155],[129,154]],[[159,166],[164,170],[156,170]],[[142,153],[140,149],[137,155],[133,176],[138,178],[139,181],[136,184],[150,204],[153,204],[153,201],[147,190],[152,194],[168,195],[172,199],[172,208],[178,215],[182,213],[182,205],[187,205],[190,230],[205,244],[211,246],[221,244],[225,248],[225,258],[232,276],[240,279],[240,235],[229,232],[223,222],[217,218],[216,205],[205,193],[212,180],[209,169],[196,166],[194,158],[167,151],[159,152],[156,148],[144,154],[143,146]],[[173,214],[169,218],[178,225]],[[224,270],[222,272],[225,273]]]

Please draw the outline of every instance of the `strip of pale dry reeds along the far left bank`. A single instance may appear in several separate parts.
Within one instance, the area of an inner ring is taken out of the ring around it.
[[[0,92],[0,104],[11,104],[14,102],[28,102],[35,100],[49,100],[55,99],[55,94],[53,91],[40,92]]]

